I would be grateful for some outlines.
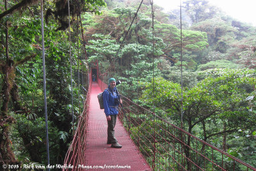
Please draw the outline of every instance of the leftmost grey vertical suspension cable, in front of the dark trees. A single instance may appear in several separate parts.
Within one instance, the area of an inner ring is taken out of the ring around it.
[[[41,29],[42,29],[42,58],[43,58],[43,73],[44,73],[44,107],[45,107],[46,151],[47,151],[47,164],[50,165],[47,100],[46,100],[46,78],[45,78],[44,13],[43,13],[43,7],[44,7],[44,3],[43,3],[43,0],[41,0]],[[50,168],[47,168],[47,170],[50,170]]]

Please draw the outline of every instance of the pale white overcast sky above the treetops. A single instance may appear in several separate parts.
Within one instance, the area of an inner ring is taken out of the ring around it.
[[[256,26],[256,0],[209,0],[234,19]],[[154,0],[154,4],[163,6],[165,11],[179,8],[180,0]]]

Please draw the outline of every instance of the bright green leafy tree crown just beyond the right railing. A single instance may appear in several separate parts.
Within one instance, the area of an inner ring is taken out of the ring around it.
[[[248,103],[245,101],[246,97],[253,92],[255,85],[255,78],[248,77],[250,72],[252,73],[252,71],[243,70],[221,70],[218,72],[219,77],[205,78],[198,82],[195,87],[184,88],[182,93],[184,122],[192,121],[187,123],[189,131],[193,126],[208,117],[212,117],[212,121],[216,120],[217,116],[221,119],[228,119],[228,125],[235,128],[250,124],[248,119],[241,120],[241,117],[245,115],[250,118],[250,112],[247,109]],[[180,100],[182,99],[180,84],[175,84],[163,78],[156,78],[155,88],[152,86],[151,82],[145,87],[143,100],[150,105],[154,103],[157,108],[168,112],[173,119],[177,116],[179,118]],[[240,121],[240,123],[237,123],[237,121]]]

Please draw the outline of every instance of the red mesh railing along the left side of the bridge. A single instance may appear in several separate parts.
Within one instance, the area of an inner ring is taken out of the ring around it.
[[[83,113],[79,115],[78,124],[74,133],[74,138],[70,147],[68,148],[65,156],[64,165],[62,170],[81,170],[79,165],[86,163],[85,149],[86,149],[86,129],[88,121],[88,109],[90,103],[90,93],[92,88],[92,73],[88,73],[89,85],[86,94],[86,100],[84,101]]]

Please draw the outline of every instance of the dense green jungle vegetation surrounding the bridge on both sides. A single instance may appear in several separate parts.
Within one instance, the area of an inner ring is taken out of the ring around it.
[[[158,115],[180,125],[180,11],[164,13],[154,5],[153,40],[151,5],[145,0],[124,39],[139,4],[139,0],[71,0],[69,41],[67,1],[45,1],[51,163],[63,163],[74,131],[71,93],[76,129],[86,98],[82,86],[88,88],[87,73],[95,60],[102,73],[108,70],[109,77],[122,80],[124,96],[150,109],[154,103]],[[45,165],[40,1],[1,1],[0,22],[0,160]],[[232,19],[207,0],[183,1],[184,130],[253,167],[255,51],[256,27]]]

